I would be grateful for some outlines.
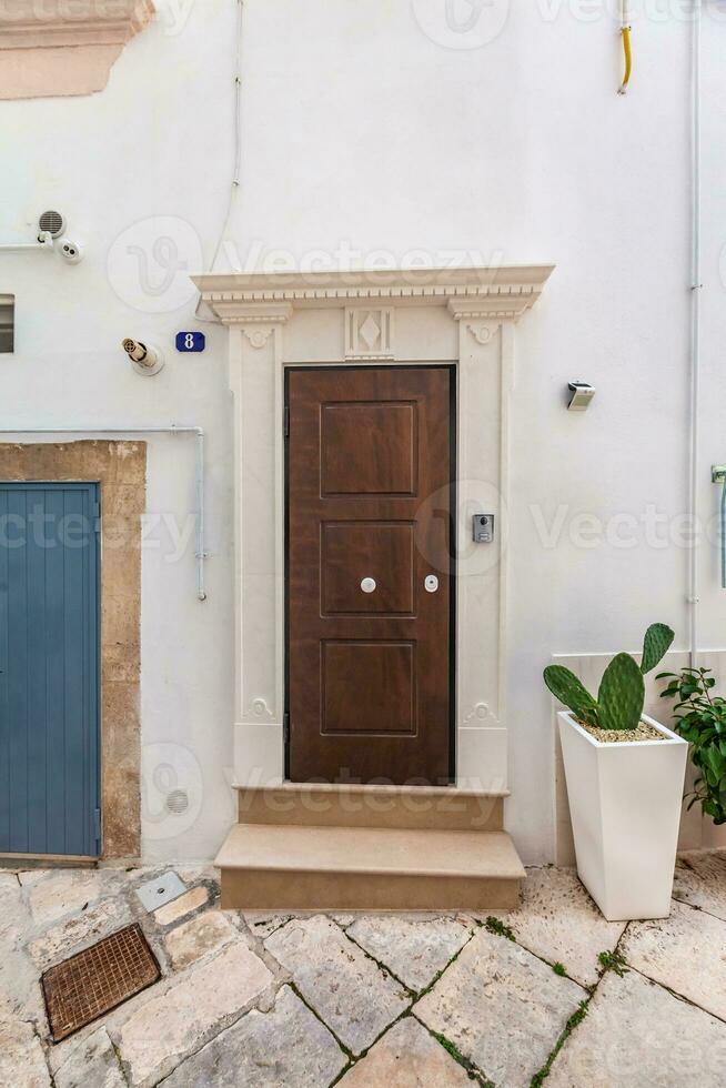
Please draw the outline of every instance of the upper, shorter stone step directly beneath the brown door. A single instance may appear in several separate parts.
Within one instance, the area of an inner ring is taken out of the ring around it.
[[[238,786],[241,824],[498,832],[506,790],[283,783]]]

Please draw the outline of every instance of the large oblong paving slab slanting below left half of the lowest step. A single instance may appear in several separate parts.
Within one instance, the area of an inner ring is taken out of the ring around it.
[[[399,983],[323,915],[290,921],[264,944],[353,1054],[370,1047],[411,1004]]]

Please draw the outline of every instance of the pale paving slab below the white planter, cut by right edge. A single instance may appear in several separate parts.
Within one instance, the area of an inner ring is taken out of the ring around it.
[[[625,959],[648,978],[726,1019],[726,923],[674,903],[670,917],[633,921]]]

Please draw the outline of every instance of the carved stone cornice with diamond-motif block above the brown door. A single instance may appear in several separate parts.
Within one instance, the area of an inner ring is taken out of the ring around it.
[[[386,272],[229,272],[192,279],[224,324],[245,323],[261,306],[355,311],[362,320],[357,324],[355,315],[349,318],[346,346],[351,355],[375,357],[390,351],[386,335],[392,324],[386,322],[392,322],[396,306],[441,305],[448,306],[456,320],[516,321],[537,301],[552,271],[553,265],[547,264]]]

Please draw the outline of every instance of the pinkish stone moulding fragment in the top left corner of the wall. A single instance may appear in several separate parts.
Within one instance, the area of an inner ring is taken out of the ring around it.
[[[102,90],[124,44],[154,13],[152,0],[16,0],[0,7],[0,99]]]

